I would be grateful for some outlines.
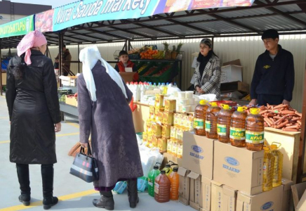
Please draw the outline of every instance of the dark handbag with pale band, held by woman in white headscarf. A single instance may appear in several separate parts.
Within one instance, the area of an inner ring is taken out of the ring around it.
[[[99,179],[97,160],[92,157],[90,146],[88,146],[87,155],[84,153],[84,148],[81,147],[80,153],[77,153],[74,158],[70,174],[88,183]]]

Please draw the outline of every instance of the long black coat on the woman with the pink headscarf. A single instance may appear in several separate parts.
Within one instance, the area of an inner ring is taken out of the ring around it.
[[[18,56],[8,64],[10,160],[20,164],[53,164],[56,162],[54,124],[61,121],[58,87],[52,60],[39,51],[31,52],[31,65]],[[25,65],[22,70],[17,68],[20,63]]]

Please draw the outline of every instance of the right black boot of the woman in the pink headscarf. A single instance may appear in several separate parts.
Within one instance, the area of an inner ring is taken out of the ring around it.
[[[44,210],[50,209],[58,203],[58,198],[53,196],[53,165],[41,165],[41,178],[43,180]]]

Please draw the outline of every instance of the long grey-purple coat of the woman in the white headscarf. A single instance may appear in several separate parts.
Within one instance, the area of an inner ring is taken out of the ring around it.
[[[95,102],[91,101],[83,74],[77,79],[80,141],[87,143],[91,134],[93,157],[98,160],[99,169],[99,181],[93,185],[111,187],[120,179],[143,175],[133,116],[128,106],[133,94],[126,87],[126,99],[100,61],[92,72]]]

